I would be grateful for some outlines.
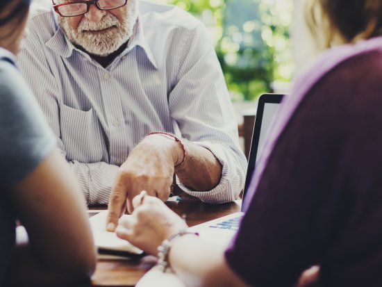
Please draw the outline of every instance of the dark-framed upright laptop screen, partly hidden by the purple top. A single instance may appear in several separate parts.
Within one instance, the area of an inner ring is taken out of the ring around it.
[[[247,188],[255,170],[256,163],[260,158],[261,151],[263,150],[274,117],[280,108],[282,99],[283,95],[276,94],[263,94],[258,99],[258,108],[254,124],[254,132],[252,133],[251,149],[249,151],[247,178],[245,180],[243,199],[247,193]]]

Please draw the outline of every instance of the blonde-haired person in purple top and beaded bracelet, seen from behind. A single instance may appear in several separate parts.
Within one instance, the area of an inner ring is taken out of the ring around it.
[[[119,220],[121,238],[150,254],[162,245],[188,286],[382,286],[382,1],[315,0],[308,11],[328,49],[285,97],[231,244],[183,235],[154,197]]]

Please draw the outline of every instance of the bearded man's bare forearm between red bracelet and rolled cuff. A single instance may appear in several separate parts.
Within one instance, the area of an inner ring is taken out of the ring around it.
[[[183,140],[187,151],[185,161],[176,167],[175,173],[190,189],[206,191],[215,188],[222,177],[222,165],[211,151]]]

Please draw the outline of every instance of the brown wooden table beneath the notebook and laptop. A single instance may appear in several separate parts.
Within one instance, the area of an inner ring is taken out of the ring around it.
[[[190,227],[240,211],[240,205],[235,202],[211,205],[181,200],[166,204],[184,218]],[[135,261],[99,259],[90,286],[135,286],[140,277],[155,263],[154,256],[144,256]]]

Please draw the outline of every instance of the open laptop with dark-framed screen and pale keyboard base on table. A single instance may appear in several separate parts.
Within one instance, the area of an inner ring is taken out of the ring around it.
[[[252,174],[254,173],[260,154],[263,151],[265,139],[271,129],[274,117],[280,108],[282,99],[283,95],[263,94],[258,100],[256,121],[252,133],[251,149],[249,151],[247,176],[243,190],[243,201],[246,198]],[[222,218],[217,218],[190,227],[190,230],[198,232],[199,237],[204,238],[205,240],[215,244],[226,245],[229,243],[235,232],[238,231],[242,215],[244,215],[243,212],[232,213],[223,216]]]

